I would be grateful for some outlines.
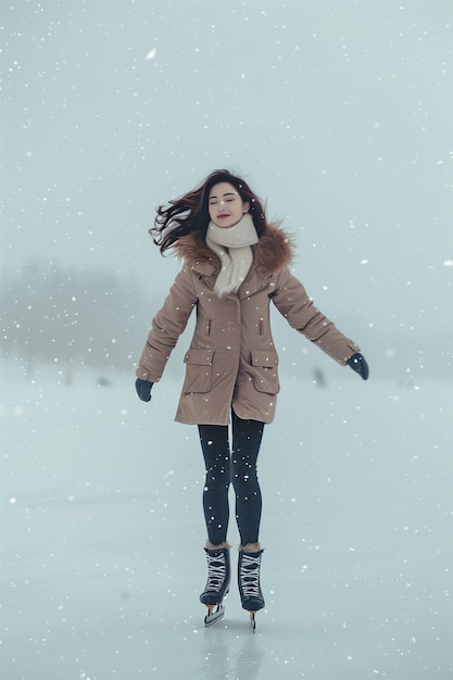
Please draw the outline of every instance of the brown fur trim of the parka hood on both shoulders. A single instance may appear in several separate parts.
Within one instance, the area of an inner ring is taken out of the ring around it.
[[[205,274],[218,274],[221,261],[200,234],[181,237],[173,248],[176,255],[191,268]],[[275,274],[290,264],[294,250],[288,234],[274,225],[267,225],[263,236],[252,248],[254,266],[263,276]]]

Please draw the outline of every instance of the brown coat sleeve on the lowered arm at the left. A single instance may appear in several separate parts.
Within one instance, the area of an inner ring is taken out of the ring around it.
[[[191,272],[185,267],[177,275],[163,306],[152,319],[136,370],[138,378],[159,382],[196,304],[197,294]]]

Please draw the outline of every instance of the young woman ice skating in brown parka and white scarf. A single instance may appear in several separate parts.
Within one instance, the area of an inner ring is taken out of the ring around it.
[[[194,190],[161,205],[150,234],[161,253],[173,249],[183,266],[152,320],[137,368],[137,393],[150,401],[151,388],[196,308],[175,419],[198,426],[206,470],[207,581],[200,601],[207,607],[206,626],[223,615],[230,581],[227,529],[232,483],[241,540],[239,593],[254,629],[255,613],[264,607],[256,461],[280,389],[270,302],[294,330],[364,380],[368,367],[357,344],[313,305],[291,275],[288,236],[266,221],[261,201],[240,177],[228,171],[212,173]]]

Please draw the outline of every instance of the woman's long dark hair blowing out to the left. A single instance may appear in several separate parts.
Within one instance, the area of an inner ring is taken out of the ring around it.
[[[267,226],[264,207],[247,181],[227,169],[214,171],[192,191],[169,201],[167,206],[159,205],[154,226],[149,232],[162,255],[181,236],[198,231],[204,240],[210,224],[207,207],[210,191],[221,181],[228,181],[236,188],[242,201],[250,202],[250,214],[259,238],[264,234]]]

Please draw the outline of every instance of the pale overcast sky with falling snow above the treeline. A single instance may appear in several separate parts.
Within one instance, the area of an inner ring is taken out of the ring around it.
[[[102,266],[163,295],[177,263],[148,236],[155,205],[227,167],[284,218],[342,330],[406,330],[451,372],[451,0],[1,12],[3,269]]]

